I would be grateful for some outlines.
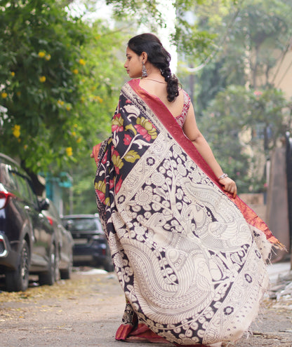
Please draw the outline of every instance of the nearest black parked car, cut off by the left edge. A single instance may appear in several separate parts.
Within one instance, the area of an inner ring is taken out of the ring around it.
[[[48,206],[48,200],[38,200],[25,171],[0,154],[0,273],[9,292],[25,291],[29,273],[39,275],[41,285],[55,282],[57,243],[41,212]]]

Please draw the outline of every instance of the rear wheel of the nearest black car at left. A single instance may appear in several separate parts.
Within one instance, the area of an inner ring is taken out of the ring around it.
[[[29,247],[26,240],[22,240],[18,268],[6,272],[6,290],[8,292],[25,292],[29,284]]]

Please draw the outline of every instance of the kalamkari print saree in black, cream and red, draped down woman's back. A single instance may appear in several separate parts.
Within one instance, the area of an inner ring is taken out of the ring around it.
[[[98,211],[126,296],[116,339],[237,341],[267,290],[265,261],[278,243],[267,225],[223,191],[139,80],[121,89],[112,136],[93,152]]]

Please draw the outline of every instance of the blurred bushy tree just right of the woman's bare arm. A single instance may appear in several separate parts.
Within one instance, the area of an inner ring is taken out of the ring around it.
[[[239,192],[263,192],[265,161],[290,128],[291,108],[277,89],[246,90],[228,86],[198,120],[215,157]]]

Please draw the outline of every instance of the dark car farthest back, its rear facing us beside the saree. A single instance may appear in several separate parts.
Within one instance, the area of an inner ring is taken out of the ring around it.
[[[73,261],[103,266],[113,271],[112,257],[107,239],[102,231],[98,214],[67,215],[62,217],[63,225],[72,233],[74,240]]]

